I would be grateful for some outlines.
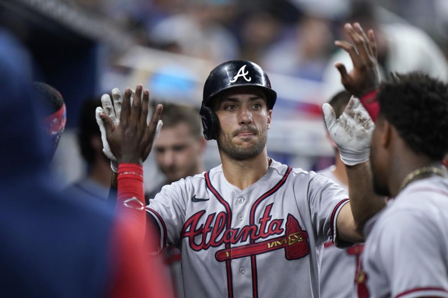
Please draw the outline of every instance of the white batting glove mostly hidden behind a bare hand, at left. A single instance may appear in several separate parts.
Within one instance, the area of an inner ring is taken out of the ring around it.
[[[134,90],[131,89],[131,97],[130,104],[132,106],[134,98]],[[107,136],[106,136],[106,128],[104,127],[103,120],[100,117],[101,113],[106,113],[106,115],[111,118],[113,125],[117,126],[120,123],[120,115],[121,115],[121,105],[123,103],[123,97],[121,96],[121,92],[118,88],[112,89],[112,100],[109,94],[103,94],[101,97],[101,102],[103,107],[97,107],[95,110],[95,117],[97,119],[98,126],[100,127],[101,132],[101,140],[103,142],[103,153],[111,160],[111,168],[115,173],[118,172],[118,160],[115,155],[113,155],[111,147],[109,146]],[[148,118],[146,119],[146,123],[149,124],[150,118],[148,113]],[[159,137],[160,130],[162,129],[163,122],[159,120],[156,127],[156,138]]]

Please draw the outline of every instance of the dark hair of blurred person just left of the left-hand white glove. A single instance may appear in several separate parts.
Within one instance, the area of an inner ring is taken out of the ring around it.
[[[95,109],[101,106],[101,99],[93,97],[86,99],[81,107],[78,144],[81,149],[81,155],[88,164],[93,164],[96,160],[96,151],[92,147],[91,138],[101,137],[100,128],[95,117]]]

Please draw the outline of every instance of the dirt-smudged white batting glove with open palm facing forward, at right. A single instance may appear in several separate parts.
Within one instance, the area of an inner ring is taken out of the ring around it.
[[[375,125],[359,99],[352,96],[338,119],[330,104],[324,103],[322,110],[327,129],[339,149],[343,163],[355,165],[367,161]]]

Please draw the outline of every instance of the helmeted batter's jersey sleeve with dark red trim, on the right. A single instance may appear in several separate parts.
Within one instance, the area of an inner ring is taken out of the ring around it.
[[[310,172],[308,200],[311,220],[317,232],[317,245],[322,245],[329,238],[338,247],[348,247],[353,243],[338,241],[336,238],[336,218],[341,208],[348,203],[345,191],[324,175]],[[300,191],[296,189],[295,191]],[[303,191],[303,190],[302,190]]]

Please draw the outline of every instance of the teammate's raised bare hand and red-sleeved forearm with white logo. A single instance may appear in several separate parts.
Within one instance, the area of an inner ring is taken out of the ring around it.
[[[117,211],[139,231],[142,240],[146,231],[146,214],[141,164],[152,148],[162,105],[157,106],[149,125],[146,122],[148,109],[149,91],[143,91],[143,87],[138,85],[134,94],[129,88],[124,92],[119,123],[115,125],[107,113],[100,114],[107,141],[119,163]]]

